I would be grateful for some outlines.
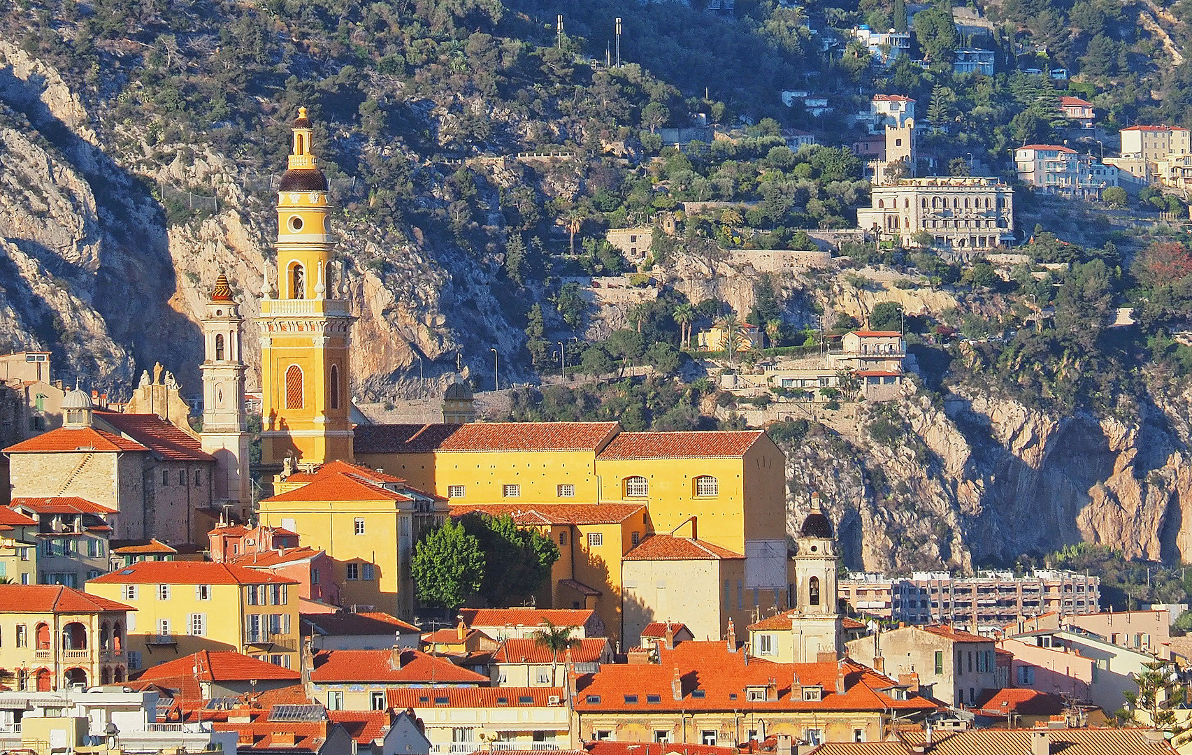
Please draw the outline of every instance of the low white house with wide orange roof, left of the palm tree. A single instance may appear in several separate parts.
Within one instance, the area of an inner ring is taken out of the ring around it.
[[[310,658],[315,698],[331,711],[385,710],[403,687],[484,687],[489,677],[420,650],[323,650]]]

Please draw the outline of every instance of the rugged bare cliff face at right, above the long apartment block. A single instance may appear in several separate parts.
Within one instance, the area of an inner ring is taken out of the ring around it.
[[[1182,403],[1182,402],[1181,402]],[[1068,543],[1128,557],[1192,558],[1186,415],[1055,419],[991,396],[899,407],[904,437],[811,435],[788,454],[794,527],[824,491],[850,568],[1013,564]]]

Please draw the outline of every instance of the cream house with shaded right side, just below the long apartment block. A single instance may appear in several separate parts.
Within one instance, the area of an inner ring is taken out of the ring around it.
[[[948,705],[973,706],[982,691],[999,688],[992,637],[942,625],[904,626],[845,646],[849,657],[881,664],[890,676],[918,674],[925,693]]]

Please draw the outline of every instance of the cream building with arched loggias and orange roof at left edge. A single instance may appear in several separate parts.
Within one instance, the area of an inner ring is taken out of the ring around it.
[[[126,680],[134,611],[58,584],[0,584],[0,683],[50,692]]]

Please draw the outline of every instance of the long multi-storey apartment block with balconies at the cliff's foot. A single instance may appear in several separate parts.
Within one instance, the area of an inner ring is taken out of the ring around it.
[[[907,624],[1001,627],[1049,611],[1061,615],[1100,611],[1100,578],[1042,570],[1025,576],[979,571],[970,577],[915,571],[908,577],[850,571],[840,600],[857,613]]]

